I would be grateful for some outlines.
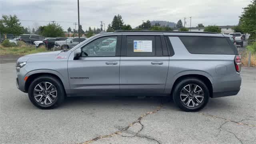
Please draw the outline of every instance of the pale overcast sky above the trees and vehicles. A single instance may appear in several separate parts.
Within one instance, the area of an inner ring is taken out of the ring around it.
[[[251,0],[80,0],[80,23],[83,29],[107,25],[114,15],[120,14],[125,24],[133,28],[142,20],[166,20],[184,22],[192,16],[192,26],[236,25],[242,8]],[[56,21],[64,30],[75,28],[77,22],[77,0],[0,0],[0,15],[16,14],[23,26],[46,25]],[[27,21],[24,21],[27,20]],[[32,21],[28,21],[32,20]]]

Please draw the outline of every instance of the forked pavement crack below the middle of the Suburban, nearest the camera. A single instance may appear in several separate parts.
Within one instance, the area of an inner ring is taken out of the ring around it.
[[[154,114],[154,113],[158,112],[159,110],[161,110],[162,107],[163,107],[163,105],[158,106],[155,110],[152,110],[152,111],[150,111],[150,112],[146,112],[145,114],[142,114],[136,121],[130,123],[128,126],[126,126],[125,128],[122,128],[122,129],[119,130],[119,131],[116,131],[116,132],[114,132],[114,133],[112,133],[112,134],[108,134],[108,135],[104,135],[104,136],[98,136],[98,137],[96,137],[96,138],[92,138],[91,140],[87,140],[86,142],[82,142],[82,143],[80,143],[80,144],[90,144],[91,142],[94,142],[94,141],[96,141],[96,140],[99,140],[99,139],[102,139],[102,138],[110,138],[110,137],[112,137],[112,136],[117,136],[117,135],[123,136],[123,135],[122,135],[122,132],[127,131],[131,126],[133,126],[134,124],[137,124],[137,123],[141,125],[140,130],[139,130],[138,132],[136,132],[136,134],[134,134],[133,136],[123,136],[123,137],[135,137],[135,136],[137,136],[137,137],[140,137],[140,138],[147,138],[147,139],[149,139],[149,140],[154,140],[154,141],[156,141],[158,144],[161,144],[158,140],[155,140],[154,138],[150,138],[150,137],[148,137],[148,136],[139,135],[139,133],[140,133],[140,132],[143,130],[143,128],[144,128],[144,125],[141,123],[142,118],[144,118],[144,117],[146,117],[146,116],[148,116],[148,115],[150,115],[150,114]]]

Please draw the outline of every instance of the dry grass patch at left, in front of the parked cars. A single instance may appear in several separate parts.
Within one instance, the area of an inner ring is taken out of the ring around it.
[[[40,46],[36,48],[34,45],[28,45],[24,42],[18,42],[15,47],[4,47],[0,45],[0,55],[4,54],[12,54],[12,55],[26,55],[26,54],[34,54],[38,52],[48,52],[44,46]]]

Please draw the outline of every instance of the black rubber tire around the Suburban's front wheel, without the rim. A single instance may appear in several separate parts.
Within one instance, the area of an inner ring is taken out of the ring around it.
[[[51,104],[48,105],[44,105],[44,104],[39,104],[36,101],[36,98],[34,97],[34,88],[40,83],[40,82],[50,82],[51,84],[54,85],[54,87],[57,90],[57,96],[54,99],[54,102],[52,102]],[[28,97],[30,99],[30,101],[32,102],[32,104],[34,104],[34,106],[40,108],[40,109],[52,109],[55,108],[57,106],[60,106],[60,104],[64,101],[65,99],[65,91],[64,91],[64,87],[62,85],[62,83],[60,82],[60,80],[58,80],[57,78],[53,77],[53,76],[48,76],[48,75],[44,75],[44,76],[40,76],[36,79],[34,79],[32,81],[32,83],[30,84],[29,88],[28,88]]]

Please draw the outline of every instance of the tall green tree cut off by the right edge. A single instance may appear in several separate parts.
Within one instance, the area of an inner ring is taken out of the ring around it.
[[[249,39],[256,39],[256,0],[253,0],[240,16],[240,24],[244,33],[250,33]]]

